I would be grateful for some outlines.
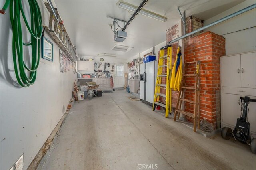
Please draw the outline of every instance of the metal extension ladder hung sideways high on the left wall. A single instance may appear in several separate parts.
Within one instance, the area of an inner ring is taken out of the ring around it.
[[[46,31],[50,34],[51,38],[56,42],[60,49],[66,53],[67,57],[72,62],[76,62],[78,58],[78,53],[76,52],[76,47],[72,44],[66,28],[64,27],[63,20],[58,13],[56,8],[53,8],[51,4],[44,3],[47,10],[50,12],[49,26],[43,26]],[[52,10],[54,9],[54,11]],[[54,24],[54,26],[52,25]],[[52,28],[53,26],[53,28]]]

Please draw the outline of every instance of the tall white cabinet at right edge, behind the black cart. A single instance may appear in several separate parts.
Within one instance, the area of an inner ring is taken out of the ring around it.
[[[240,96],[256,99],[256,52],[220,58],[221,127],[234,128],[241,115]],[[248,122],[256,137],[256,103],[249,103]]]

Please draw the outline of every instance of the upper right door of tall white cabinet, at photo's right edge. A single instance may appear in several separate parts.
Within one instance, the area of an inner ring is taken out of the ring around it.
[[[241,55],[242,87],[256,88],[256,53]]]

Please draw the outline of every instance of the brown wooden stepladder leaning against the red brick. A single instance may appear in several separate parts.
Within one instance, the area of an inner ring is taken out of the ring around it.
[[[199,108],[200,107],[200,64],[201,64],[201,61],[192,61],[192,62],[184,63],[184,72],[182,74],[181,87],[180,87],[181,90],[178,95],[178,101],[177,101],[176,110],[174,113],[174,121],[176,121],[177,115],[178,115],[178,119],[180,118],[180,113],[193,118],[194,119],[193,120],[194,132],[196,132],[196,124],[197,124],[197,128],[198,129],[200,128],[200,108]],[[196,65],[195,73],[186,74],[186,69],[187,69],[188,65]],[[195,78],[195,86],[194,87],[185,86],[187,77]],[[194,90],[194,92],[195,92],[194,101],[183,98],[184,90],[190,90],[190,91]],[[194,114],[180,109],[181,105],[182,105],[182,101],[194,104]]]

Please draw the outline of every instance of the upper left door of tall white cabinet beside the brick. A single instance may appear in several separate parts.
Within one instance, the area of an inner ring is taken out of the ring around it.
[[[220,72],[222,87],[241,87],[240,55],[222,57]]]

